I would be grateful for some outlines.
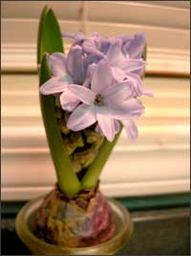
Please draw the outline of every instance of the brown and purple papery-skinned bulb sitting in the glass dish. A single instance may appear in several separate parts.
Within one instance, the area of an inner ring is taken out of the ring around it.
[[[109,240],[115,232],[115,219],[98,186],[75,198],[55,188],[37,209],[32,229],[50,244],[83,247]]]

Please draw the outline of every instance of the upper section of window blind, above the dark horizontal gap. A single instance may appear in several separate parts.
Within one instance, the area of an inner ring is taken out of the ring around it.
[[[106,35],[143,32],[148,42],[147,73],[188,75],[189,3],[157,2],[49,1],[49,6],[58,16],[63,32],[83,31],[87,35],[93,31]],[[3,71],[36,70],[38,20],[46,4],[47,1],[2,3]],[[65,39],[66,50],[70,43]]]

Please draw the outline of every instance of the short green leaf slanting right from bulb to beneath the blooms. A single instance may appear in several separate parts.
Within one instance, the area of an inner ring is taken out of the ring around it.
[[[103,143],[103,145],[101,146],[98,152],[96,160],[92,163],[92,165],[90,165],[86,174],[83,176],[81,180],[82,188],[91,189],[96,186],[98,177],[104,165],[106,164],[111,152],[113,151],[113,148],[117,143],[117,139],[120,135],[121,130],[122,130],[122,126],[120,127],[120,131],[117,133],[113,142],[109,142],[105,139],[105,142]]]

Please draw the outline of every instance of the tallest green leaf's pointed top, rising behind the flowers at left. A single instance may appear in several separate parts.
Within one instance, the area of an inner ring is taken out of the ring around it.
[[[49,10],[46,6],[41,14],[38,27],[37,63],[41,62],[45,53],[55,52],[64,52],[62,36],[53,10]]]

